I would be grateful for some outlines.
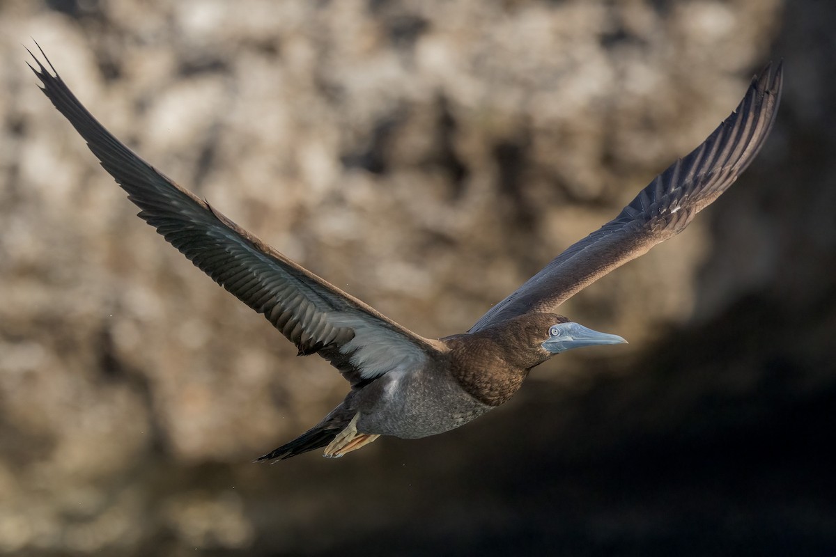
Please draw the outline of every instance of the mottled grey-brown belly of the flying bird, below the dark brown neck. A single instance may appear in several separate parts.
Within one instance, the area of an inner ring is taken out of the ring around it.
[[[381,377],[375,386],[379,396],[359,405],[357,429],[362,433],[428,437],[458,428],[494,408],[477,401],[451,377],[388,375],[392,377]]]

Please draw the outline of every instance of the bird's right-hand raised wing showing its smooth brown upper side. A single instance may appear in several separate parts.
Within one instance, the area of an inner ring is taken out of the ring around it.
[[[554,311],[600,277],[678,234],[737,180],[761,150],[781,99],[782,65],[752,79],[737,109],[699,147],[624,207],[614,220],[569,246],[543,270],[493,306],[477,332],[529,311]]]

